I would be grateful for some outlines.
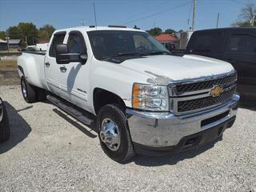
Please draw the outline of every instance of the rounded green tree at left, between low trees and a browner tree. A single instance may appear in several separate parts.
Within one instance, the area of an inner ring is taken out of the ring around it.
[[[18,29],[22,33],[23,42],[27,45],[34,45],[37,42],[38,29],[32,22],[20,22]]]

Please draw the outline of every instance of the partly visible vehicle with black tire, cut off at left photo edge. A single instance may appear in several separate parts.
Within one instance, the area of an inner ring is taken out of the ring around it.
[[[9,120],[5,105],[0,98],[0,142],[5,142],[8,138],[10,138]]]

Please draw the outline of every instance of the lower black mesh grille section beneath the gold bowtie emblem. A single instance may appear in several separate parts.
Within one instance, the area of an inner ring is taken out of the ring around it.
[[[205,97],[205,98],[195,98],[186,101],[178,102],[178,113],[186,112],[190,110],[198,110],[202,108],[206,108],[209,106],[215,106],[221,104],[223,102],[227,102],[232,98],[235,93],[235,87],[232,90],[228,90],[218,97]]]

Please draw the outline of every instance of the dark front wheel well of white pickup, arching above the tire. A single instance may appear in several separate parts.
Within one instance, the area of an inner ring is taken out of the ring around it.
[[[117,94],[113,94],[110,91],[103,90],[101,88],[94,89],[94,111],[98,114],[98,111],[107,104],[115,103],[122,107],[122,110],[126,109],[126,104],[123,102]]]

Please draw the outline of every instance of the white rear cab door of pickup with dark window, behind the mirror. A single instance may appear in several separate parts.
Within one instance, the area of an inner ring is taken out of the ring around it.
[[[46,84],[49,90],[54,94],[61,94],[60,83],[64,78],[62,75],[58,75],[60,71],[60,65],[56,62],[56,45],[62,44],[66,36],[66,31],[57,32],[51,41],[50,49],[46,53],[45,58],[45,74]]]

